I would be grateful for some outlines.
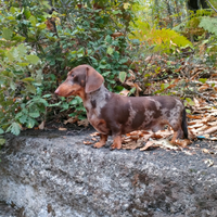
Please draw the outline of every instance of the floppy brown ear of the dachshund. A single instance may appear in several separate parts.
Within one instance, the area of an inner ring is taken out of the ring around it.
[[[90,93],[100,88],[104,78],[92,67],[87,67],[85,92]]]

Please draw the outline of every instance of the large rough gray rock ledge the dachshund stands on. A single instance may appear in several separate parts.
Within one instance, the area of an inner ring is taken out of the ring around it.
[[[85,136],[21,136],[1,150],[0,201],[26,217],[217,216],[216,156],[110,151]]]

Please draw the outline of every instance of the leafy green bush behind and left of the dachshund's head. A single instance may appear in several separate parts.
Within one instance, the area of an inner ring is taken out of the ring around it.
[[[69,68],[90,64],[119,90],[116,77],[128,69],[127,34],[133,18],[128,2],[75,0],[3,1],[0,13],[0,133],[18,135],[44,115],[68,111],[84,118],[77,98],[53,94]],[[71,110],[69,110],[71,107]],[[43,114],[43,115],[41,115]],[[0,140],[1,142],[1,140]]]

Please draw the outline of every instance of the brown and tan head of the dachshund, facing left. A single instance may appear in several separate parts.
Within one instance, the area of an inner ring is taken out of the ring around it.
[[[86,93],[98,90],[103,81],[102,75],[93,67],[79,65],[67,74],[66,80],[59,86],[55,94],[61,97],[79,95],[84,99]]]

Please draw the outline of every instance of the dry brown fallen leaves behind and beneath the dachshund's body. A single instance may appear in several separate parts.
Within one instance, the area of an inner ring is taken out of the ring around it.
[[[173,144],[170,139],[174,131],[167,127],[164,130],[153,133],[151,131],[138,130],[127,133],[123,137],[123,149],[140,149],[148,151],[150,149],[163,148],[166,150],[183,150],[196,140],[217,140],[217,69],[215,67],[205,66],[193,63],[193,61],[184,61],[180,59],[177,62],[170,62],[170,66],[176,69],[168,68],[168,56],[154,55],[148,58],[148,63],[144,71],[149,75],[149,80],[144,82],[138,81],[139,72],[130,69],[128,77],[122,80],[127,89],[124,89],[120,94],[129,95],[130,90],[135,88],[135,94],[139,95],[156,95],[156,94],[173,94],[183,99],[187,108],[189,139],[176,140]],[[151,72],[154,65],[156,71]],[[161,68],[161,69],[158,69]],[[167,73],[165,76],[165,72]],[[149,82],[145,85],[145,82]],[[143,88],[144,87],[144,88]],[[73,119],[74,122],[78,122]],[[82,124],[82,123],[81,123]],[[87,122],[85,123],[87,126]],[[91,135],[91,137],[99,133]],[[199,148],[200,149],[200,145]],[[209,153],[209,152],[208,152]]]

